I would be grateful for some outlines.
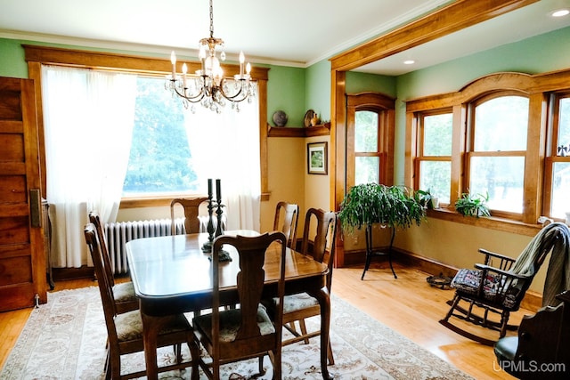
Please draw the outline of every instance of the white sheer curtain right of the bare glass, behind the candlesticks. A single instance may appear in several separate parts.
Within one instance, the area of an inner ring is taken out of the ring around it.
[[[208,178],[222,181],[228,230],[259,230],[261,174],[259,163],[259,106],[256,98],[240,104],[240,112],[226,105],[220,114],[197,104],[184,114],[191,164],[207,190]],[[216,186],[214,185],[216,198]]]

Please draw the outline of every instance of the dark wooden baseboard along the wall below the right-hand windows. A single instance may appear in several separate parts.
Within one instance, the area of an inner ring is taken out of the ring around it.
[[[425,271],[426,273],[438,276],[443,275],[447,277],[454,277],[458,268],[452,267],[451,265],[439,263],[429,257],[424,257],[420,255],[413,254],[402,249],[394,249],[394,255],[392,255],[392,260],[395,263],[401,263],[407,267],[416,268],[419,271]],[[382,248],[379,248],[381,251]],[[366,253],[364,250],[358,251],[345,251],[345,265],[364,265],[366,261]],[[372,262],[384,262],[387,261],[386,255],[378,255],[372,257]],[[521,303],[521,307],[530,311],[538,311],[542,307],[542,293],[534,292],[528,290],[526,292],[525,298]]]

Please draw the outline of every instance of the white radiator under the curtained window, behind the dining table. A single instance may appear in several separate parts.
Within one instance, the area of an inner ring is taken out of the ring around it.
[[[199,230],[206,232],[208,229],[208,216],[199,216]],[[216,219],[213,220],[216,224]],[[225,229],[225,218],[222,226]],[[157,219],[153,221],[111,222],[104,225],[107,249],[109,250],[110,263],[115,274],[128,272],[126,263],[125,243],[133,239],[152,238],[156,236],[172,235],[170,219]],[[175,219],[175,235],[186,233],[184,218]]]

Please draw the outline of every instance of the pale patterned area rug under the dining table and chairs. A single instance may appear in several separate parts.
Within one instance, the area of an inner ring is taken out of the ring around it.
[[[471,379],[452,365],[333,295],[330,341],[335,379]],[[319,319],[309,319],[309,328]],[[48,294],[48,303],[32,311],[26,327],[0,373],[0,379],[102,379],[106,328],[97,287]],[[283,379],[322,379],[319,339],[283,348]],[[189,353],[184,352],[188,358]],[[173,360],[171,348],[160,349],[159,365]],[[142,353],[122,360],[128,372],[143,368]],[[267,373],[271,363],[265,357]],[[256,373],[257,360],[223,368],[224,379],[244,379]],[[190,378],[190,369],[161,378]],[[206,378],[201,374],[200,378]]]

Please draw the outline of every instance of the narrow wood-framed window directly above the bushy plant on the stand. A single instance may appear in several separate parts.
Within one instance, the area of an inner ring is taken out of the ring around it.
[[[392,184],[394,100],[379,93],[348,95],[346,182]]]

